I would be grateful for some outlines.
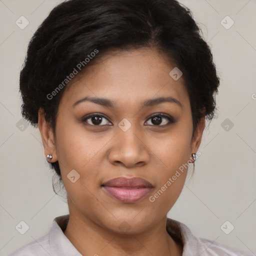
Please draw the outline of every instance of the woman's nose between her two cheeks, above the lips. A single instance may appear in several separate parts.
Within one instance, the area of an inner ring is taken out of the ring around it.
[[[112,139],[111,148],[108,151],[108,159],[114,165],[122,165],[126,168],[142,166],[149,161],[149,148],[135,125],[128,130],[117,130]]]

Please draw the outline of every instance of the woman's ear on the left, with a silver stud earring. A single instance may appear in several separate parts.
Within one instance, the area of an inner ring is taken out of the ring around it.
[[[57,161],[56,146],[55,146],[53,131],[49,123],[46,122],[45,120],[45,113],[42,108],[39,108],[38,110],[38,128],[41,133],[45,158],[47,154],[51,154],[52,159],[50,160],[46,158],[47,161],[49,162]]]

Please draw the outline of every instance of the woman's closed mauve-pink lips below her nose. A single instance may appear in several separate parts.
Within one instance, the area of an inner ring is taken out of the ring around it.
[[[115,199],[126,203],[144,198],[153,188],[150,182],[141,177],[117,177],[104,182],[101,187]]]

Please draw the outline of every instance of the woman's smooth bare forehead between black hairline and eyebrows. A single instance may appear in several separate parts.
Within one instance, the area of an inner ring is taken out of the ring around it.
[[[111,50],[87,66],[78,79],[74,78],[64,94],[68,100],[86,94],[113,101],[135,102],[165,95],[185,101],[188,94],[183,77],[174,80],[169,75],[173,68],[175,63],[156,49]]]

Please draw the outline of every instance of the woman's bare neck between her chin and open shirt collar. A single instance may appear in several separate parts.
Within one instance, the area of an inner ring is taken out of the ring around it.
[[[70,214],[64,234],[83,256],[182,255],[182,245],[166,231],[166,217],[144,232],[127,234],[112,232],[84,216]]]

